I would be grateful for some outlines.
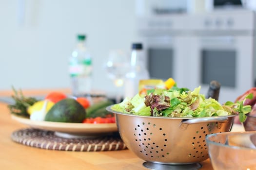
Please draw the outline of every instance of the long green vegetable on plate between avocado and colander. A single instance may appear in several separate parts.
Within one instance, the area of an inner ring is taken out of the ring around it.
[[[90,107],[88,107],[86,110],[86,118],[95,118],[95,113],[100,115],[100,112],[104,112],[104,115],[108,114],[109,112],[106,110],[106,107],[109,105],[114,104],[114,102],[110,100],[98,102],[95,104],[92,104]],[[102,113],[103,114],[103,113]]]

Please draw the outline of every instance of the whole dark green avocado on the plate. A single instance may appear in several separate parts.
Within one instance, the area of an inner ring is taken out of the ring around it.
[[[45,121],[81,123],[85,119],[85,109],[72,98],[55,103],[45,115]]]

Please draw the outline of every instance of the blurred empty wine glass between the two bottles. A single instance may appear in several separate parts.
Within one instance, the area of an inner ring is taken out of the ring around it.
[[[116,102],[121,102],[123,96],[120,90],[123,87],[125,75],[129,68],[129,59],[126,53],[122,50],[111,50],[106,62],[105,69],[108,77],[113,80],[117,87]]]

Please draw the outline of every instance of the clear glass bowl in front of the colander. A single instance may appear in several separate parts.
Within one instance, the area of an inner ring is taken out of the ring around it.
[[[256,132],[225,132],[206,136],[214,170],[256,170]]]

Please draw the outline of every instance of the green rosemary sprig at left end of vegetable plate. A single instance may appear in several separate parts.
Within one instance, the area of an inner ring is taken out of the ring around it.
[[[33,97],[25,97],[22,91],[17,91],[13,86],[12,90],[14,91],[14,95],[11,97],[14,99],[15,104],[9,104],[8,108],[10,109],[11,114],[20,115],[23,117],[29,117],[27,112],[27,108],[30,105],[33,105],[35,102],[38,102],[36,98]]]

